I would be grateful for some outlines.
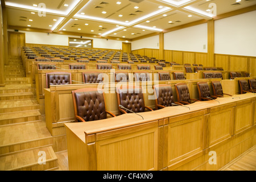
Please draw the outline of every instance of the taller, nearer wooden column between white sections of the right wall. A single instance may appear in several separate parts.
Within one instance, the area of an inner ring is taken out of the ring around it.
[[[214,65],[214,20],[209,20],[207,23],[208,27],[208,65],[207,66],[215,66]]]

